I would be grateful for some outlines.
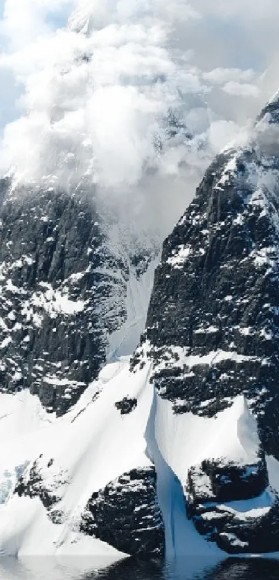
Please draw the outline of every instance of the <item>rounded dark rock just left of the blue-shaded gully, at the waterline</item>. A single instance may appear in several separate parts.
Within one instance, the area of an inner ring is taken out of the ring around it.
[[[155,469],[133,469],[93,493],[81,530],[120,552],[163,556],[164,528],[156,498]]]

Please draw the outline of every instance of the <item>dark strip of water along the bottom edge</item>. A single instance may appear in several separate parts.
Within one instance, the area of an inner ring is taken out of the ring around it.
[[[279,560],[185,559],[170,563],[127,559],[114,565],[84,559],[0,560],[1,580],[279,580]]]

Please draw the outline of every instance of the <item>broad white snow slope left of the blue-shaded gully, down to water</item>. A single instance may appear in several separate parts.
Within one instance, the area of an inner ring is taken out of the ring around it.
[[[138,399],[133,415],[123,420],[114,403],[127,395],[127,361],[108,365],[78,405],[62,419],[47,415],[28,392],[3,396],[0,545],[3,554],[100,554],[100,541],[76,531],[80,515],[95,490],[134,466],[150,465],[144,432],[152,392],[144,370],[129,385]],[[97,398],[96,398],[97,397]],[[133,433],[133,437],[131,437]],[[4,435],[5,434],[5,435]],[[51,475],[62,496],[65,525],[53,525],[39,499],[12,496],[24,467],[39,455],[54,459]],[[42,540],[43,538],[43,540]],[[108,548],[105,547],[105,554]],[[111,549],[111,554],[114,554]]]

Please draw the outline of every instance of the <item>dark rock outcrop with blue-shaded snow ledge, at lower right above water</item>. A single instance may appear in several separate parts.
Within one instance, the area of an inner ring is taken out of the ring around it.
[[[188,518],[229,554],[276,552],[279,497],[268,483],[264,459],[253,465],[205,460],[188,472]]]

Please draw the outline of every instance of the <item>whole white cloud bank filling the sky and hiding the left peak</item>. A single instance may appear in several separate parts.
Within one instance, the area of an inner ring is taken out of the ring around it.
[[[262,73],[279,48],[277,1],[6,0],[0,77],[11,73],[21,98],[4,129],[3,171],[12,165],[25,181],[55,173],[65,187],[86,174],[101,194],[132,197],[151,223],[160,206],[165,233],[276,84],[276,66],[268,82]],[[69,28],[55,30],[73,9]],[[170,109],[191,141],[182,129],[170,138]]]

